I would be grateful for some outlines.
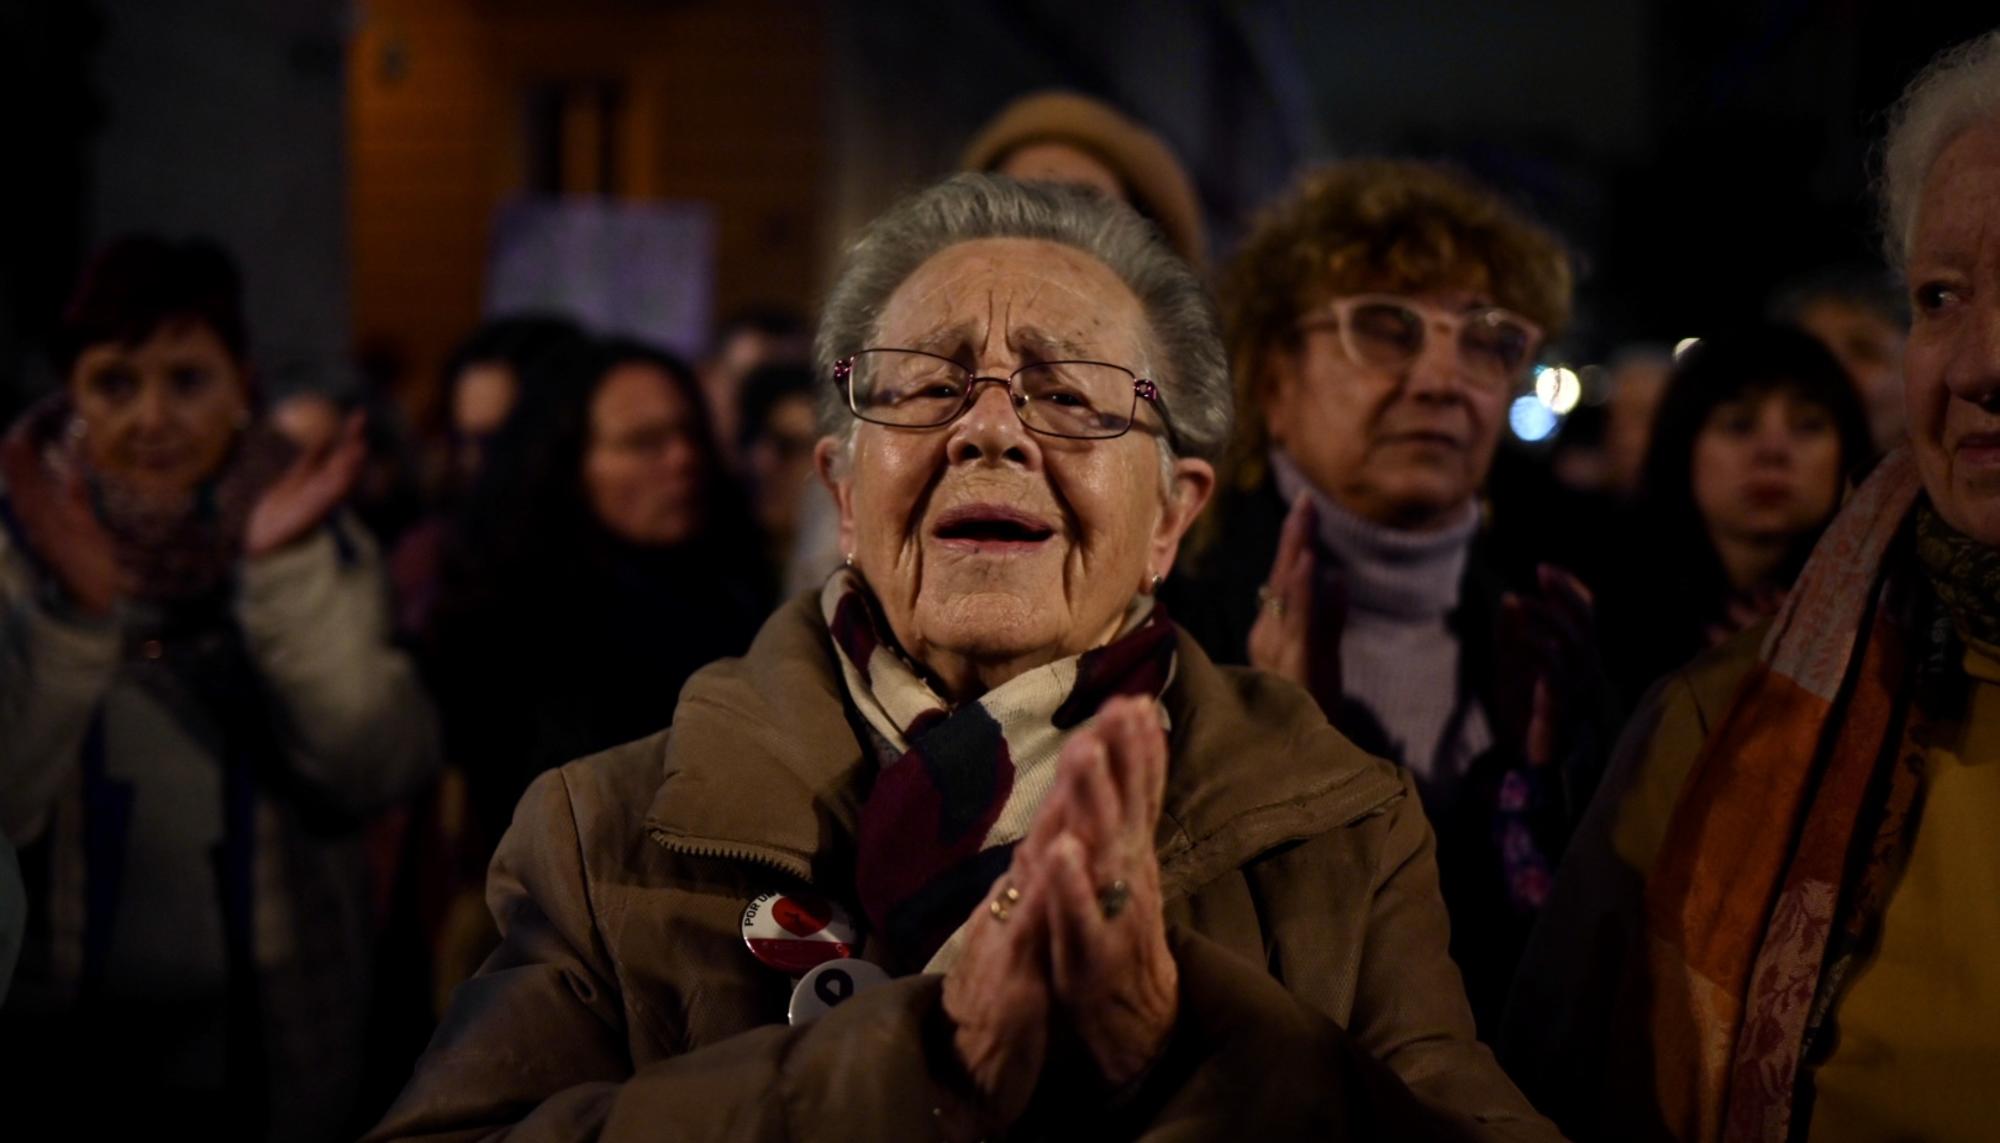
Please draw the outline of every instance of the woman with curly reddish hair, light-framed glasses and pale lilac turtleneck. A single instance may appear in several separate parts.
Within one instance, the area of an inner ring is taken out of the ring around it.
[[[1170,609],[1410,773],[1486,1027],[1606,721],[1582,587],[1508,593],[1480,500],[1570,262],[1468,178],[1346,162],[1258,218],[1222,310],[1236,440]]]

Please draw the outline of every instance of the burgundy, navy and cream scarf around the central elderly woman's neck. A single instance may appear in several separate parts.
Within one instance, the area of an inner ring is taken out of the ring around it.
[[[854,861],[862,911],[892,969],[942,971],[956,959],[956,929],[1028,835],[1062,743],[1112,695],[1166,691],[1174,623],[1138,595],[1110,643],[954,709],[904,657],[860,573],[836,570],[820,609],[880,765]]]

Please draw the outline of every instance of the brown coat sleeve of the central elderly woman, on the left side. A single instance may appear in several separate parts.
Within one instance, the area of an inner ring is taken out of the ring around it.
[[[634,1069],[592,909],[568,775],[534,779],[488,875],[500,949],[452,999],[390,1139],[952,1139],[974,1125],[948,1069],[940,977],[906,977],[802,1025],[766,1025]]]

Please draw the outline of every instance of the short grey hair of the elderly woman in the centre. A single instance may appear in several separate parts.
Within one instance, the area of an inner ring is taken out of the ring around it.
[[[982,238],[1038,238],[1102,262],[1146,314],[1146,374],[1174,444],[1214,460],[1230,440],[1230,374],[1208,290],[1160,232],[1132,208],[1084,188],[958,174],[892,206],[848,248],[820,314],[812,356],[822,378],[834,362],[876,342],[890,296],[932,256]],[[820,386],[820,430],[854,438],[854,416],[838,386]],[[1162,464],[1170,448],[1162,442]]]

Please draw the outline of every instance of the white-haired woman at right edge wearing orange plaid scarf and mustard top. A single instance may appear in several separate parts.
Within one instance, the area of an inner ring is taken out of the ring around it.
[[[1888,134],[1910,448],[1630,727],[1510,1007],[1582,1139],[2000,1121],[2000,34]]]

